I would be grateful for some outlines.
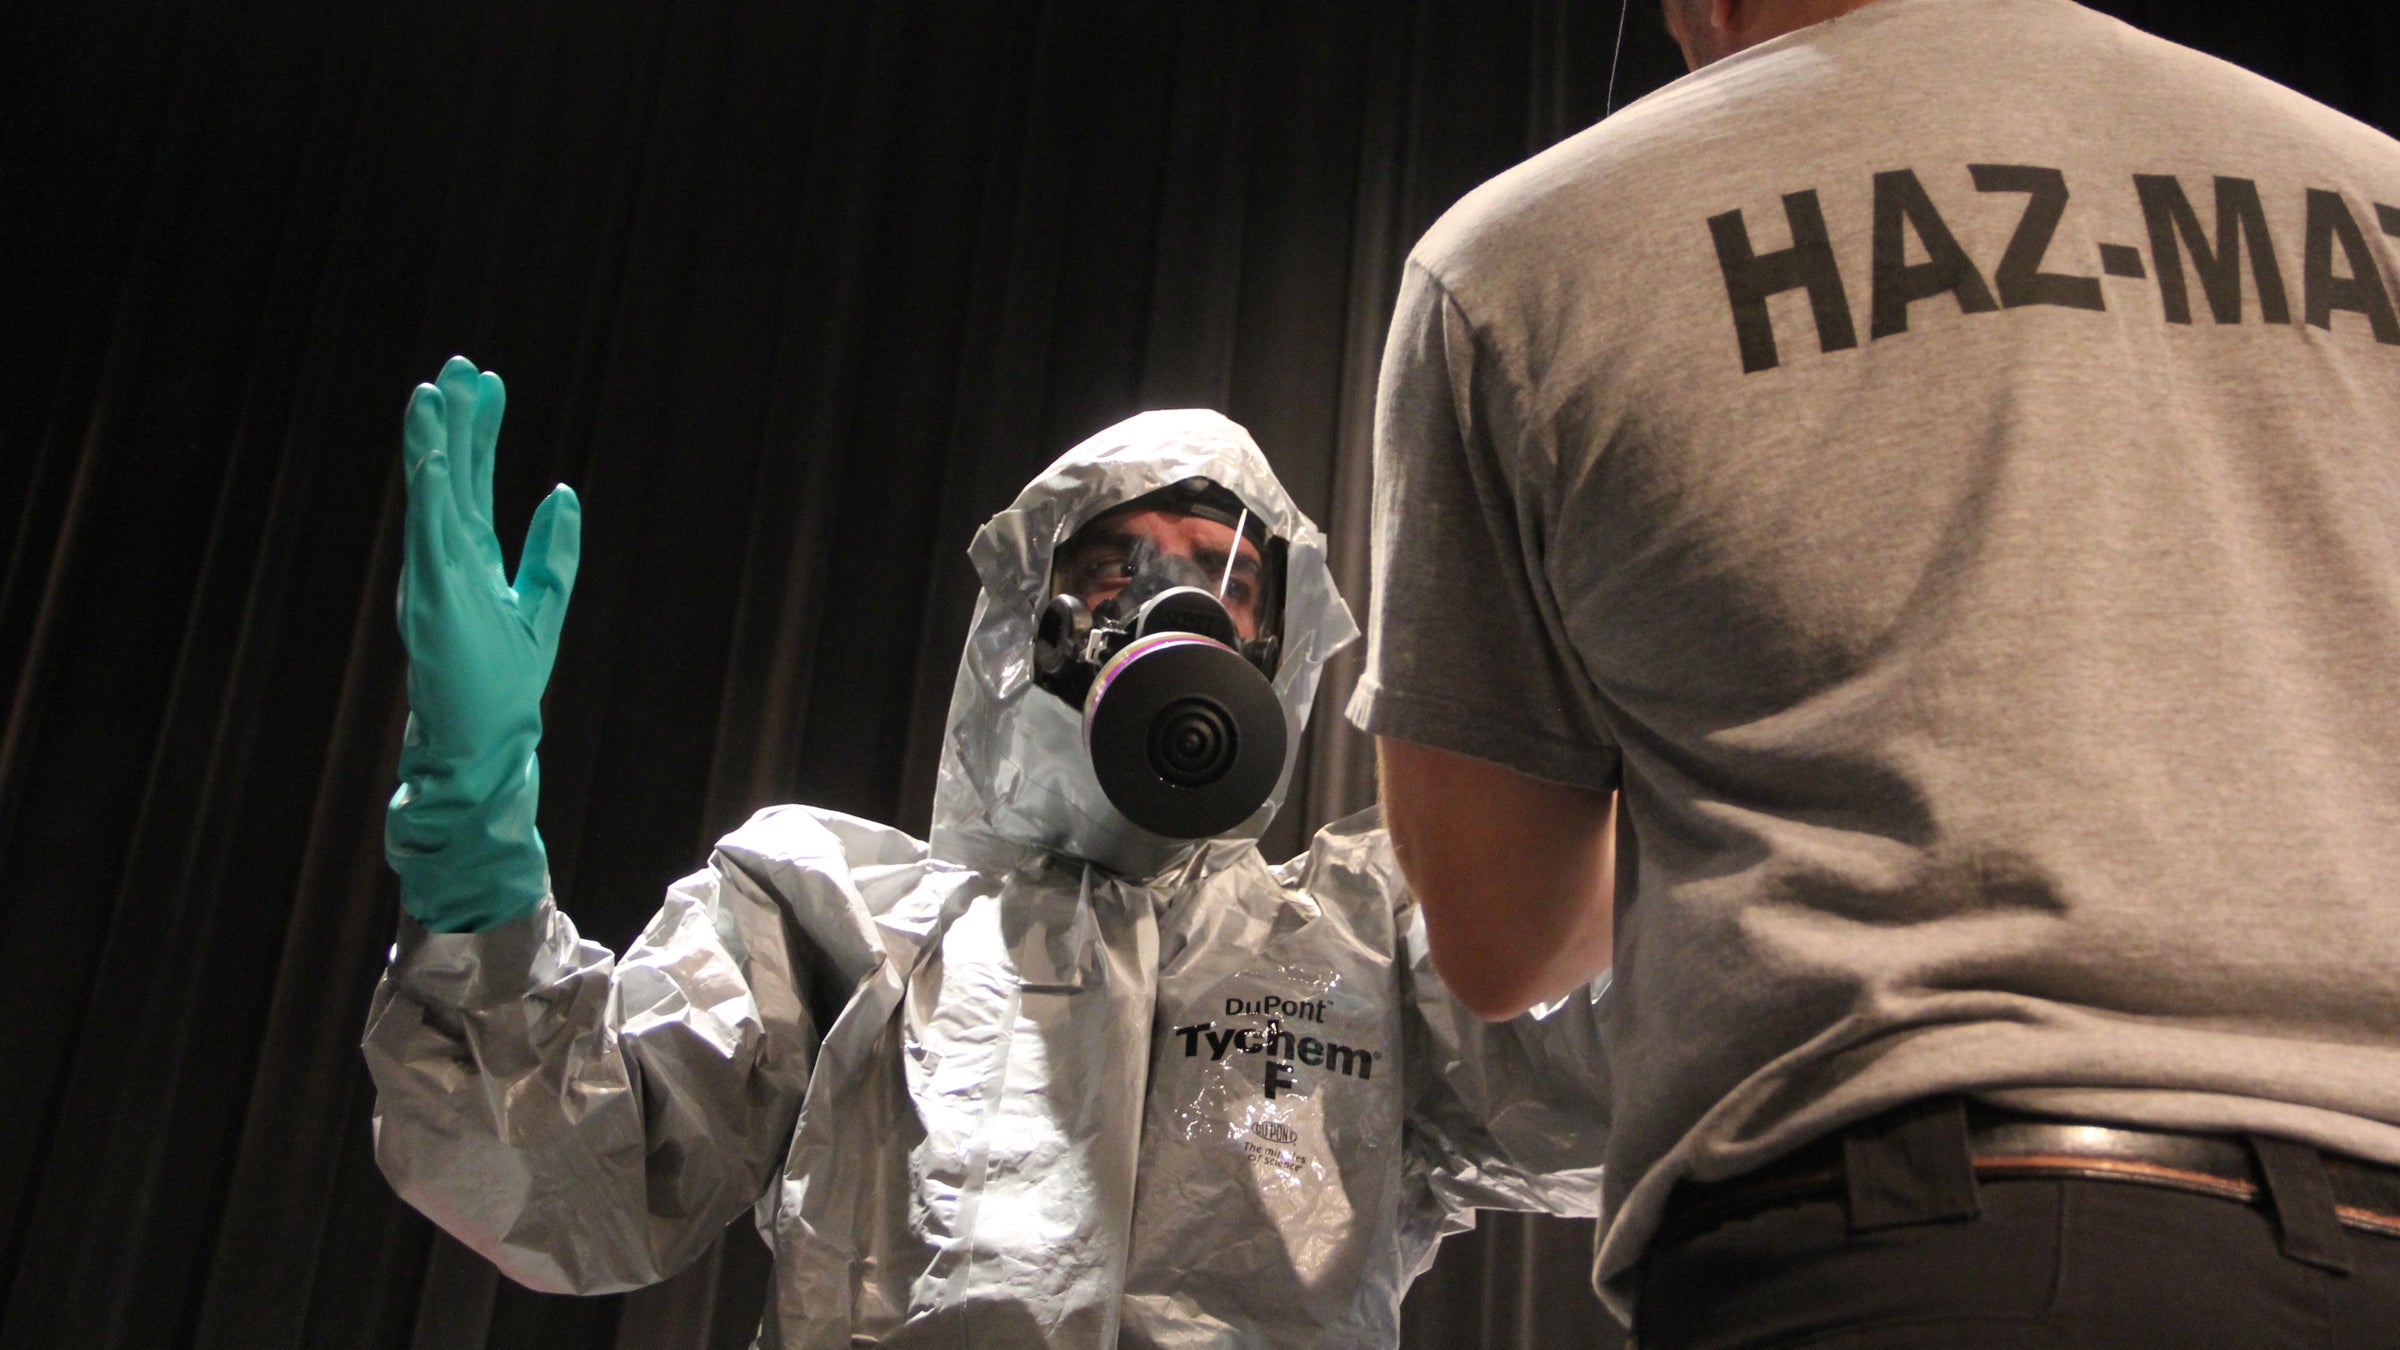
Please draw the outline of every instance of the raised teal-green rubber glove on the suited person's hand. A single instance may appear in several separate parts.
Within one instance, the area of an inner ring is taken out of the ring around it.
[[[583,550],[583,507],[559,483],[533,512],[509,584],[492,533],[492,452],[506,389],[454,356],[408,396],[401,464],[408,540],[401,641],[408,733],[384,858],[401,906],[434,932],[480,932],[533,913],[550,862],[533,829],[542,687]]]

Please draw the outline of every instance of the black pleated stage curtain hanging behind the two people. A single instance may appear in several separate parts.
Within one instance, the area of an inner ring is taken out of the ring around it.
[[[2390,130],[2376,0],[2112,5]],[[1603,113],[1618,5],[0,7],[0,1348],[737,1348],[737,1225],[526,1292],[374,1172],[353,1047],[408,387],[511,382],[511,545],[586,502],[542,831],[622,946],[766,802],[922,831],[962,548],[1217,406],[1366,593],[1406,245]],[[1618,101],[1680,72],[1632,0]],[[1838,110],[1829,108],[1829,118]],[[1366,805],[1320,699],[1270,855]],[[1411,1345],[1613,1345],[1589,1225],[1486,1220]]]

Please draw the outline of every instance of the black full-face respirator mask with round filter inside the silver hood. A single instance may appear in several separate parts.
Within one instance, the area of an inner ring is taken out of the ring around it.
[[[1058,545],[1034,682],[1082,709],[1092,773],[1135,826],[1210,838],[1274,793],[1284,552],[1207,478],[1135,497]]]

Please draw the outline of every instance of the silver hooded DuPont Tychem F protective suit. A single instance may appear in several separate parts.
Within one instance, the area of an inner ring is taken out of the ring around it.
[[[1373,817],[1267,867],[1118,817],[1032,682],[1051,552],[1186,478],[1289,540],[1291,745],[1356,637],[1217,413],[1142,413],[974,538],[934,838],[770,807],[624,958],[552,903],[406,925],[365,1052],[391,1184],[540,1290],[643,1285],[756,1208],[758,1333],[842,1345],[1390,1345],[1474,1206],[1591,1213],[1601,990],[1457,1006]],[[1289,769],[1286,769],[1289,783]]]

